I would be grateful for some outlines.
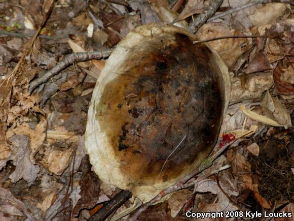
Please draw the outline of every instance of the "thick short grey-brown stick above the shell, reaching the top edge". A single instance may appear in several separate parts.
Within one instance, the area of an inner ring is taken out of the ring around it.
[[[214,0],[210,1],[210,5],[207,7],[205,12],[199,15],[187,28],[192,33],[196,33],[197,30],[210,18],[216,10],[222,5],[224,0]]]

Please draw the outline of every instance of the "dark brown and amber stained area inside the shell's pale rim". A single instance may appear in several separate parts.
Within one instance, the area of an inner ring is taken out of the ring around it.
[[[97,118],[121,170],[134,180],[174,178],[214,146],[224,92],[211,56],[204,44],[177,34],[174,44],[130,60],[130,69],[105,86]]]

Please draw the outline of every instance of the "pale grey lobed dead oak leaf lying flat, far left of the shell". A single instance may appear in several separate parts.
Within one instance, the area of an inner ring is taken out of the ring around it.
[[[9,176],[13,183],[21,178],[29,185],[37,178],[40,167],[30,159],[29,138],[25,135],[15,135],[9,138],[13,145],[14,154],[10,157],[15,165],[15,171]]]

